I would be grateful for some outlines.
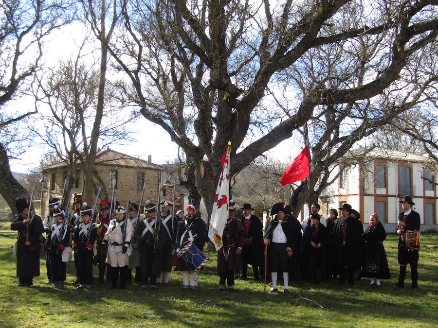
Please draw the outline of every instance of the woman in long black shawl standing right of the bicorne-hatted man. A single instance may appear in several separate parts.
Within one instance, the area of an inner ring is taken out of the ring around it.
[[[311,225],[304,230],[301,250],[309,282],[320,284],[326,279],[326,248],[329,238],[327,228],[319,222],[321,216],[312,214],[310,219]]]

